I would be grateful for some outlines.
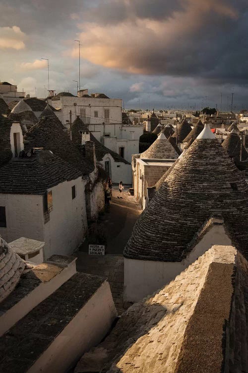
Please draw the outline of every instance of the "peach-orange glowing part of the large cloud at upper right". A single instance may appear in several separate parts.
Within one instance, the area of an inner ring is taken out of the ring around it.
[[[172,11],[169,17],[147,15],[140,18],[138,14],[127,12],[124,20],[107,26],[96,21],[85,22],[78,36],[83,41],[83,58],[128,73],[173,73],[173,59],[177,54],[180,58],[180,51],[186,50],[186,45],[193,54],[195,39],[199,42],[201,35],[206,38],[207,34],[212,37],[212,19],[217,23],[219,18],[219,27],[222,27],[223,19],[238,18],[237,10],[228,1],[182,0],[180,8]],[[124,3],[131,10],[132,1],[125,0]],[[73,48],[70,54],[77,57],[78,48]],[[193,67],[193,56],[189,55],[184,65],[187,69]]]

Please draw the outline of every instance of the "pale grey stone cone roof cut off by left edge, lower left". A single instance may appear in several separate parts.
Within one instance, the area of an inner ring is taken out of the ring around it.
[[[0,302],[14,290],[24,268],[24,261],[0,236]]]

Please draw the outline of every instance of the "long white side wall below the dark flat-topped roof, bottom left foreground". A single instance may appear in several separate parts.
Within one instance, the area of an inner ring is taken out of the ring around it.
[[[105,281],[27,373],[65,373],[106,336],[117,317]]]

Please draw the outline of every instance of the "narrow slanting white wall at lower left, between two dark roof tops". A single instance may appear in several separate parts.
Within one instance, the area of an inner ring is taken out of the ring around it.
[[[64,268],[48,282],[41,282],[33,291],[20,299],[12,308],[0,316],[0,336],[9,330],[17,321],[24,317],[34,307],[57,290],[64,282],[76,273],[75,261]]]

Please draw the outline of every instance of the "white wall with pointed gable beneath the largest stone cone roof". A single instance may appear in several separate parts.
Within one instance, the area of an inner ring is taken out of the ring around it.
[[[213,245],[232,245],[222,225],[213,225],[182,262],[124,258],[124,301],[138,302],[175,279]]]

